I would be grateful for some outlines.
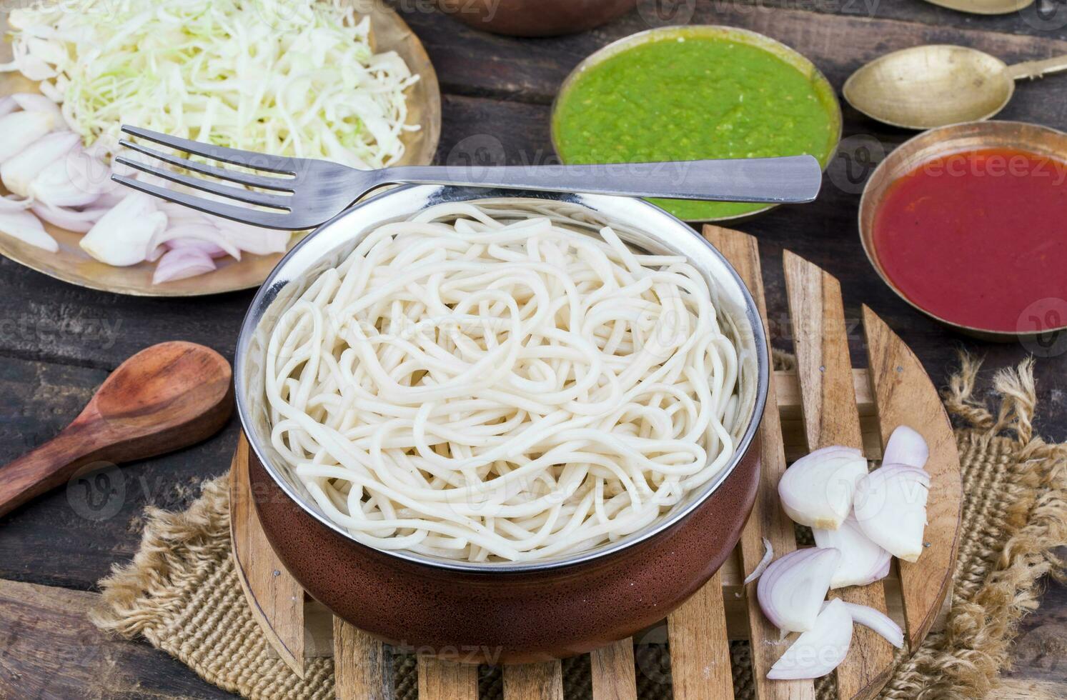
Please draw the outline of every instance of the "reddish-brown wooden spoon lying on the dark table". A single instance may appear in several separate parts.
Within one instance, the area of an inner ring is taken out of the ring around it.
[[[193,343],[145,348],[111,372],[63,432],[0,467],[0,515],[93,462],[129,462],[197,443],[234,410],[229,363]]]

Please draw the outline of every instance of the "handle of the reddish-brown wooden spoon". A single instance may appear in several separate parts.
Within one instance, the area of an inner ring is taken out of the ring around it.
[[[100,451],[93,431],[76,420],[44,445],[0,467],[0,515],[68,481]]]

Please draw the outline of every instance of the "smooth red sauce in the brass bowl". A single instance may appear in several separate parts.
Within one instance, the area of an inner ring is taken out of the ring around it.
[[[890,185],[874,249],[905,297],[945,320],[1009,332],[1067,323],[1040,314],[1035,328],[1032,314],[1067,300],[1067,163],[1005,148],[923,163]]]

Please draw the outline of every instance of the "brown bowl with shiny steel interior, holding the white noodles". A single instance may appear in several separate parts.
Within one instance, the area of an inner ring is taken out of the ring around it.
[[[494,196],[495,195],[495,196]],[[529,562],[467,562],[369,547],[319,510],[274,450],[264,398],[267,336],[318,275],[369,232],[441,202],[477,202],[610,224],[655,253],[685,255],[715,290],[742,347],[738,451],[711,482],[660,520],[599,548]],[[235,362],[238,412],[252,447],[252,493],[264,530],[292,575],[340,618],[394,645],[465,662],[525,663],[579,654],[663,619],[733,550],[755,497],[753,445],[769,380],[766,338],[751,297],[726,259],[691,228],[640,200],[545,192],[404,187],[367,200],[302,241],[257,293]]]

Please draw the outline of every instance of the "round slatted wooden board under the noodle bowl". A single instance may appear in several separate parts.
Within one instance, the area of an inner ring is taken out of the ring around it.
[[[703,233],[733,264],[766,319],[755,239],[717,226],[705,226]],[[942,619],[952,586],[961,483],[952,426],[937,389],[907,346],[865,306],[870,369],[854,369],[838,281],[787,251],[783,264],[797,370],[775,372],[770,383],[761,425],[761,488],[735,555],[665,621],[675,700],[733,697],[731,639],[752,642],[760,700],[814,698],[812,681],[765,680],[792,638],[780,639],[760,612],[755,584],[742,584],[763,557],[763,538],[771,542],[776,557],[798,546],[793,524],[779,507],[777,483],[786,464],[810,449],[853,445],[877,460],[898,425],[922,433],[930,447],[926,552],[915,563],[894,566],[885,580],[834,594],[887,611],[905,627],[909,649],[914,649]],[[230,472],[230,535],[253,615],[298,674],[304,673],[305,658],[334,656],[338,700],[391,699],[393,670],[383,645],[307,599],[270,550],[249,498],[248,454],[242,439]],[[590,654],[594,700],[637,697],[633,643],[626,639]],[[877,695],[892,661],[892,647],[857,626],[848,657],[837,670],[839,697]],[[419,700],[477,700],[475,667],[419,656],[417,668]],[[563,700],[559,662],[508,666],[503,672],[505,700]]]

